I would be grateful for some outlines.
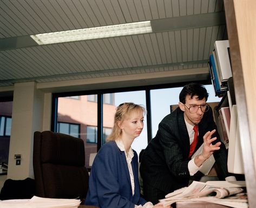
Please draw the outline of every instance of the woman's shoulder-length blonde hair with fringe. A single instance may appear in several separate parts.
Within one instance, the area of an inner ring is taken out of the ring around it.
[[[117,106],[115,118],[114,118],[114,127],[112,129],[111,134],[107,137],[107,141],[114,141],[121,136],[121,128],[119,124],[122,123],[127,116],[132,112],[143,112],[143,115],[146,114],[146,109],[142,105],[134,104],[133,102],[124,102]]]

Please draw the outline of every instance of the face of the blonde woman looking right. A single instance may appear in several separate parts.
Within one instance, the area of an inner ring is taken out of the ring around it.
[[[122,130],[122,137],[135,138],[140,136],[144,126],[143,112],[134,111],[121,123],[120,128]]]

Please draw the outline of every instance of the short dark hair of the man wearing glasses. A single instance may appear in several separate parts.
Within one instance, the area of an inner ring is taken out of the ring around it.
[[[198,96],[198,100],[202,100],[205,98],[207,101],[208,99],[208,93],[206,88],[203,85],[200,85],[198,83],[190,83],[183,87],[183,89],[180,92],[180,102],[186,103],[186,96],[189,95],[191,99],[193,96]]]

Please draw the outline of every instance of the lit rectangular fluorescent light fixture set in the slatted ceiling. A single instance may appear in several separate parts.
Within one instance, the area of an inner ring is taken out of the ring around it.
[[[30,37],[34,39],[38,45],[44,45],[78,40],[128,36],[130,34],[141,34],[149,32],[152,32],[150,21],[145,21],[61,32],[34,34]]]

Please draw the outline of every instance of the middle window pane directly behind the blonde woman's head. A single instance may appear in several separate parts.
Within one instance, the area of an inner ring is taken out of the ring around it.
[[[114,115],[116,107],[123,102],[134,102],[136,104],[146,107],[146,93],[145,91],[122,92],[113,94],[114,105],[103,105],[103,127],[112,128],[114,124]],[[136,137],[132,148],[140,154],[142,149],[145,149],[148,144],[147,137],[147,116],[144,118],[144,128],[139,137]]]

